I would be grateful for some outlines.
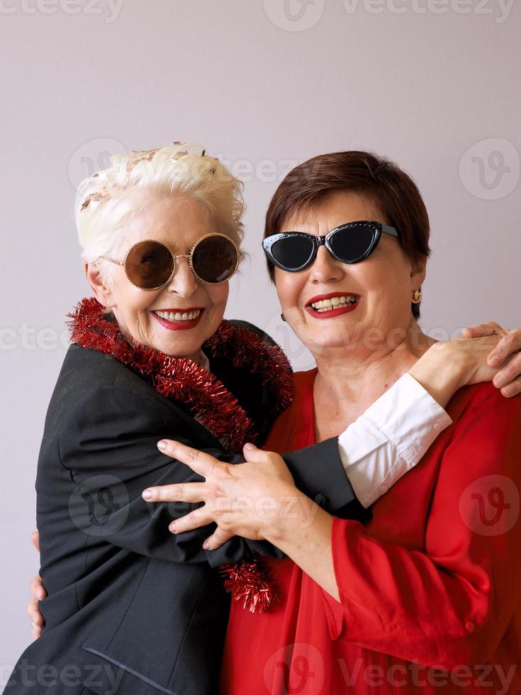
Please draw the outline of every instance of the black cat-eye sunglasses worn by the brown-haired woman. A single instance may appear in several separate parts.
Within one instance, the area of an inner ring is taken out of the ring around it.
[[[313,263],[320,246],[325,246],[332,257],[342,263],[359,263],[375,250],[382,233],[398,236],[394,227],[360,221],[342,224],[325,236],[303,232],[273,234],[264,239],[262,248],[276,267],[294,273]]]

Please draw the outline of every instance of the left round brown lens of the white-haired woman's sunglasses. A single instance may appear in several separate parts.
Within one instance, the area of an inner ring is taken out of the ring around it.
[[[136,244],[127,255],[127,275],[142,289],[155,289],[167,282],[174,269],[174,259],[166,246],[158,241]]]

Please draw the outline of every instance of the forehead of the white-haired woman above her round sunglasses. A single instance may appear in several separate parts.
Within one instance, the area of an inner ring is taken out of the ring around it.
[[[204,234],[215,230],[210,213],[196,201],[173,196],[143,197],[138,211],[130,216],[127,240],[162,241],[171,248],[191,248]]]

